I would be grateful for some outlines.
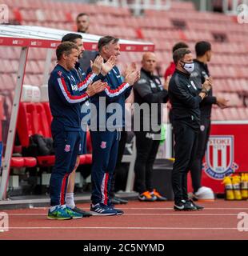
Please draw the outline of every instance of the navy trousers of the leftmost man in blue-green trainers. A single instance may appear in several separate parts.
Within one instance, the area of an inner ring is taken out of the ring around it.
[[[50,178],[51,206],[64,205],[68,177],[74,170],[77,155],[82,141],[78,131],[53,129],[55,164]]]

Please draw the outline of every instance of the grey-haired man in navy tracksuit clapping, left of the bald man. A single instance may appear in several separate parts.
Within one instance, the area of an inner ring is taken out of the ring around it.
[[[100,38],[98,50],[104,61],[107,61],[111,55],[118,57],[120,54],[118,38],[110,36]],[[89,72],[90,69],[88,74]],[[105,90],[90,99],[90,102],[94,104],[97,110],[97,113],[90,110],[90,135],[93,149],[91,171],[92,205],[90,210],[94,214],[115,215],[123,213],[122,210],[114,209],[110,205],[110,183],[118,156],[120,130],[124,126],[125,99],[130,95],[131,86],[138,80],[138,77],[138,71],[130,67],[125,81],[122,82],[118,67],[114,66],[104,80],[104,82],[107,82]],[[114,110],[113,113],[106,113],[110,103],[117,103],[116,106],[122,112],[115,116],[115,120],[110,117],[118,110]],[[106,114],[106,117],[104,117],[104,114]]]

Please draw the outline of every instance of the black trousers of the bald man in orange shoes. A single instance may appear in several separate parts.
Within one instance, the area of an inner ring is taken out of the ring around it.
[[[134,190],[142,194],[153,190],[152,170],[160,141],[150,138],[150,133],[143,131],[136,132],[135,135],[137,156],[134,165]]]

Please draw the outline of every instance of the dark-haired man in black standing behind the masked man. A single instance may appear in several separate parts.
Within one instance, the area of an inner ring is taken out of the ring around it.
[[[194,59],[194,72],[190,75],[190,80],[194,82],[198,90],[202,90],[202,84],[210,77],[210,72],[207,66],[207,62],[210,62],[212,55],[210,42],[197,42],[195,45],[195,53],[196,59]],[[200,103],[201,118],[198,133],[198,150],[195,161],[190,167],[194,199],[211,199],[207,195],[213,194],[213,191],[210,190],[210,188],[205,186],[203,187],[201,184],[202,160],[210,137],[212,105],[217,104],[219,107],[225,108],[227,106],[227,102],[228,101],[225,98],[214,97],[213,90],[210,89],[208,96]]]

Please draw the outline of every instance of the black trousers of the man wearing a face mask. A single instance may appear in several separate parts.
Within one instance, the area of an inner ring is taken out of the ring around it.
[[[187,174],[196,158],[198,147],[198,130],[187,126],[184,122],[174,122],[175,162],[172,170],[172,188],[174,201],[187,200]]]

